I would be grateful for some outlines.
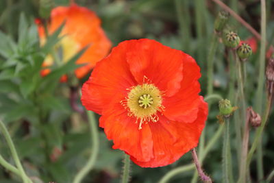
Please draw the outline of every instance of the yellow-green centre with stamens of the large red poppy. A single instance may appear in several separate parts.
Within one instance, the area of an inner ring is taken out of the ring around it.
[[[128,110],[127,115],[136,117],[139,130],[142,129],[142,123],[159,120],[157,112],[164,110],[162,95],[163,93],[154,84],[145,83],[132,87],[125,100],[121,101]]]

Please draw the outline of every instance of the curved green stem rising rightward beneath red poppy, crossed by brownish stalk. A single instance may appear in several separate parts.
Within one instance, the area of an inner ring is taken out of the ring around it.
[[[212,147],[216,144],[216,141],[220,138],[222,132],[223,132],[224,125],[219,125],[219,128],[217,132],[210,138],[210,141],[208,142],[208,145],[206,145],[206,148],[203,150],[203,154],[201,154],[200,162],[202,163],[204,158],[206,158],[208,152],[212,149]],[[178,175],[180,173],[184,173],[185,171],[190,171],[192,169],[195,169],[194,164],[188,164],[184,165],[182,167],[177,167],[175,169],[172,169],[168,173],[166,173],[159,181],[159,183],[166,183],[171,180],[175,175]]]

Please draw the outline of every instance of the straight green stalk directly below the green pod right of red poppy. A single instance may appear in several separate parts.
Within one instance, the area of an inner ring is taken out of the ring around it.
[[[232,178],[229,123],[229,118],[225,118],[225,132],[223,133],[223,182],[225,183],[234,182]]]

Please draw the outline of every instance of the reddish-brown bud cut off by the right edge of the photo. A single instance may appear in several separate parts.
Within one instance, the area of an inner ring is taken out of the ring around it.
[[[269,97],[273,96],[274,86],[274,57],[272,56],[266,66],[266,86]]]

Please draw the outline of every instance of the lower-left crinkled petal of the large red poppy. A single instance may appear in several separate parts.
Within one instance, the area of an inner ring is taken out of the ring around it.
[[[114,149],[121,149],[136,160],[148,161],[153,158],[151,130],[149,125],[143,125],[142,130],[138,130],[138,125],[136,119],[128,117],[127,111],[118,102],[111,103],[107,110],[103,110],[100,118],[100,127],[113,141]]]

